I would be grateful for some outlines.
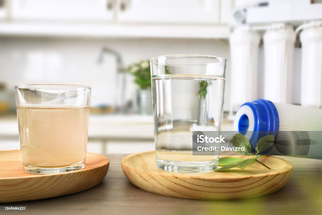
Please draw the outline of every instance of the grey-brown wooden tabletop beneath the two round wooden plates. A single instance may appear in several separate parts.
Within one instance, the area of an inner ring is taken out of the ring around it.
[[[161,196],[133,186],[123,174],[125,155],[108,154],[110,168],[96,187],[79,193],[45,200],[7,203],[28,206],[10,214],[322,214],[322,161],[283,157],[294,165],[283,189],[267,196],[230,201],[187,200]],[[2,204],[4,205],[4,204]],[[4,211],[1,211],[4,212]]]

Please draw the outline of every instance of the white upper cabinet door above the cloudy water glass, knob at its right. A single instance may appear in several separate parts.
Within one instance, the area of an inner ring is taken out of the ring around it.
[[[11,19],[22,21],[112,21],[116,0],[12,0]]]

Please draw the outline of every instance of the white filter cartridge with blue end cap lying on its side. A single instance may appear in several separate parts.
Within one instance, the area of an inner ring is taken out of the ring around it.
[[[233,126],[253,147],[261,137],[274,135],[275,141],[296,147],[299,155],[322,158],[322,109],[260,99],[244,103]]]

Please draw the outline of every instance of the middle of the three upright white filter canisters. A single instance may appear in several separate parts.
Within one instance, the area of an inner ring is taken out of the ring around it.
[[[264,98],[292,103],[292,73],[296,34],[290,25],[274,24],[264,34]]]

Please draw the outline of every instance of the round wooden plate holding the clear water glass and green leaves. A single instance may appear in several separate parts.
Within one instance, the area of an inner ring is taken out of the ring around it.
[[[271,170],[254,163],[244,170],[174,173],[156,168],[155,152],[147,151],[124,157],[122,169],[132,184],[145,191],[186,199],[227,200],[267,195],[287,183],[293,170],[290,162],[273,156],[259,160]]]

